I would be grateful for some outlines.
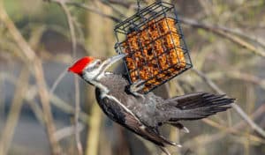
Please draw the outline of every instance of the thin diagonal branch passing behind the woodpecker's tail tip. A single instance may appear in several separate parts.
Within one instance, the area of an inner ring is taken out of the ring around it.
[[[196,73],[201,79],[208,84],[214,91],[225,94],[211,79],[209,79],[204,73],[202,73],[200,70],[192,69],[194,73]],[[231,107],[235,109],[235,111],[242,117],[243,120],[245,120],[249,126],[254,129],[257,133],[261,135],[261,137],[265,138],[265,131],[261,129],[249,116],[242,110],[241,107],[239,107],[238,104],[232,103]]]

